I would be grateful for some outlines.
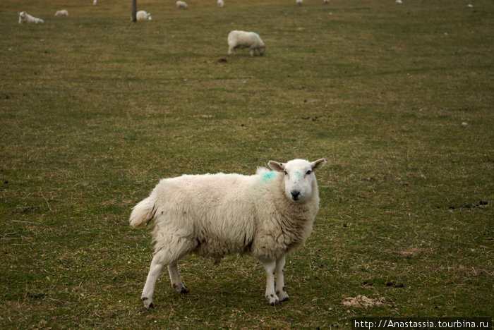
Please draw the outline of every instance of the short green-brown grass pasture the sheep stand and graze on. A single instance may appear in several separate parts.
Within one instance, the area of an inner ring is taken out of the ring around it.
[[[130,0],[2,1],[1,329],[493,317],[493,1],[294,2],[139,0],[153,20],[131,23]],[[265,56],[218,62],[230,30]],[[128,216],[159,178],[320,157],[289,302],[267,305],[252,257],[192,256],[190,293],[164,272],[143,308],[150,228]]]

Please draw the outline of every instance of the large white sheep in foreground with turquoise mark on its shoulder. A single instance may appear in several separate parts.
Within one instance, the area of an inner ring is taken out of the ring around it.
[[[268,164],[274,171],[258,168],[253,176],[217,173],[165,178],[135,205],[131,226],[155,220],[155,255],[141,295],[146,308],[153,307],[152,295],[164,266],[171,286],[187,293],[177,262],[191,252],[211,257],[215,263],[224,255],[250,253],[265,267],[265,296],[270,305],[288,300],[285,255],[311,234],[319,209],[314,173],[326,160]]]

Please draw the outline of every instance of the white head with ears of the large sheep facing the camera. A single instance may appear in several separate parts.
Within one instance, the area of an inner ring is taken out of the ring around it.
[[[268,163],[271,169],[284,173],[284,194],[293,202],[306,202],[311,199],[315,182],[314,172],[325,164],[325,159],[313,162],[294,159],[288,163]]]

